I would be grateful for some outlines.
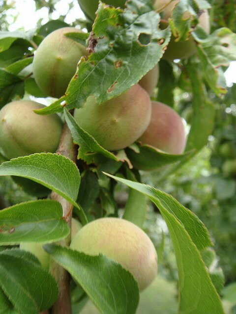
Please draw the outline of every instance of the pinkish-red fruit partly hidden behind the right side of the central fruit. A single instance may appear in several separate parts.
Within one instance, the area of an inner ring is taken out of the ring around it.
[[[152,102],[150,123],[138,140],[169,154],[181,154],[186,144],[184,125],[170,106]]]

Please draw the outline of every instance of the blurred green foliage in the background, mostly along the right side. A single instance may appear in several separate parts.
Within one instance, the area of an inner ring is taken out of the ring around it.
[[[47,8],[48,20],[53,18],[53,13],[57,12],[55,6],[59,1],[34,1],[35,10]],[[69,12],[73,10],[76,1],[67,2],[69,3]],[[210,0],[209,2],[212,5],[210,10],[212,30],[226,26],[236,32],[235,0]],[[7,30],[17,20],[18,14],[15,11],[15,4],[16,1],[14,0],[0,0],[0,30]],[[66,15],[58,13],[58,19],[64,21]],[[42,19],[35,21],[35,23],[37,23],[35,26],[40,26]],[[72,22],[73,25],[80,24],[82,27],[87,23],[88,21],[81,19],[75,19]],[[173,64],[171,79],[168,81],[168,91],[171,93],[160,96],[162,88],[159,85],[159,91],[156,89],[153,98],[159,99],[161,97],[163,102],[166,98],[166,103],[173,105],[183,117],[186,122],[186,131],[188,131],[193,114],[192,95],[188,89],[188,82],[181,71],[181,66],[179,61]],[[175,169],[175,166],[172,166],[173,173],[171,173],[170,168],[161,169],[157,172],[143,172],[143,183],[148,183],[170,193],[204,222],[215,244],[217,258],[213,266],[219,265],[225,275],[226,287],[221,296],[224,300],[226,313],[236,314],[236,84],[228,86],[228,93],[224,98],[216,97],[210,90],[208,91],[208,98],[214,103],[217,110],[215,128],[208,138],[207,146],[182,167]],[[3,157],[0,157],[0,162],[3,161]],[[170,175],[165,176],[167,171]],[[127,189],[123,185],[117,184],[115,198],[121,214],[127,197]],[[22,187],[11,178],[0,177],[0,209],[34,198],[25,193]],[[176,313],[177,299],[175,254],[166,224],[161,218],[159,210],[152,204],[148,204],[144,229],[151,237],[157,250],[163,241],[165,242],[162,263],[159,267],[158,284],[153,284],[153,286],[162,286],[163,293],[157,292],[154,300],[158,298],[159,304],[166,304],[162,308],[160,305],[161,313],[174,314]],[[172,299],[175,299],[173,307],[169,306],[172,301],[165,300],[165,296],[168,294],[167,290],[171,291]],[[149,301],[148,295],[150,296]],[[145,306],[147,312],[140,310],[140,313],[155,313],[151,312],[151,307],[148,309],[147,306],[147,304],[150,305],[151,298],[153,299],[151,293],[146,293],[146,296],[142,298],[146,300],[146,305],[142,306]],[[89,306],[87,310],[85,308],[84,313],[96,313],[92,312],[95,310],[91,310]]]

